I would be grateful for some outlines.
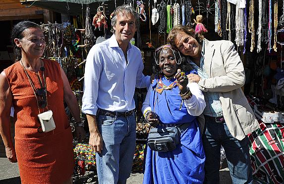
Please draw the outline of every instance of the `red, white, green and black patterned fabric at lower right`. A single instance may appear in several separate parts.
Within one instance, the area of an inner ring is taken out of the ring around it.
[[[260,184],[284,184],[284,124],[263,123],[249,135],[253,179]]]

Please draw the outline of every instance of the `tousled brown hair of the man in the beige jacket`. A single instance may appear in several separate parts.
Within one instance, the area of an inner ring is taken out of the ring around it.
[[[171,30],[170,33],[168,35],[168,43],[170,43],[170,45],[175,46],[175,39],[176,39],[176,35],[178,34],[178,32],[183,32],[191,37],[194,37],[198,43],[202,43],[202,40],[204,39],[204,37],[202,35],[198,35],[195,34],[195,30],[189,26],[182,26],[182,25],[176,25],[174,26]]]

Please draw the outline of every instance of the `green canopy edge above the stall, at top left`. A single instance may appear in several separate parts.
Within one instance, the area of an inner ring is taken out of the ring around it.
[[[27,0],[26,2],[33,6],[68,15],[85,14],[87,6],[90,7],[91,14],[96,14],[97,8],[101,5],[106,6],[106,14],[111,14],[115,9],[115,4],[117,6],[124,4],[123,0]]]

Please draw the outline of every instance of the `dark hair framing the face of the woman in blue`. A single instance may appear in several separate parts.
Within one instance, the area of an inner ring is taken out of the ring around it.
[[[154,75],[159,75],[161,74],[161,69],[159,67],[159,65],[156,64],[156,60],[159,60],[160,58],[160,53],[162,52],[163,49],[159,49],[156,51],[156,55],[155,55],[155,58],[153,59],[153,67],[152,67],[152,70],[153,70],[153,74]],[[175,58],[176,59],[176,62],[177,63],[180,63],[179,65],[177,64],[177,69],[180,69],[181,72],[189,72],[192,70],[192,67],[189,65],[189,63],[187,62],[185,56],[183,54],[180,53],[180,56],[179,57],[179,51],[177,51],[175,48],[172,48],[172,51],[173,51],[173,54],[177,57]]]

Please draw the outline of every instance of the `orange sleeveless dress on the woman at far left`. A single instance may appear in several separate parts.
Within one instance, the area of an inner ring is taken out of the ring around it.
[[[15,150],[22,184],[62,184],[73,173],[72,132],[63,105],[63,81],[59,64],[45,60],[48,109],[53,111],[54,131],[39,133],[39,109],[22,65],[17,62],[4,70],[14,107]],[[27,71],[36,88],[35,72]],[[39,74],[43,81],[43,72]],[[47,108],[40,108],[41,113]]]

